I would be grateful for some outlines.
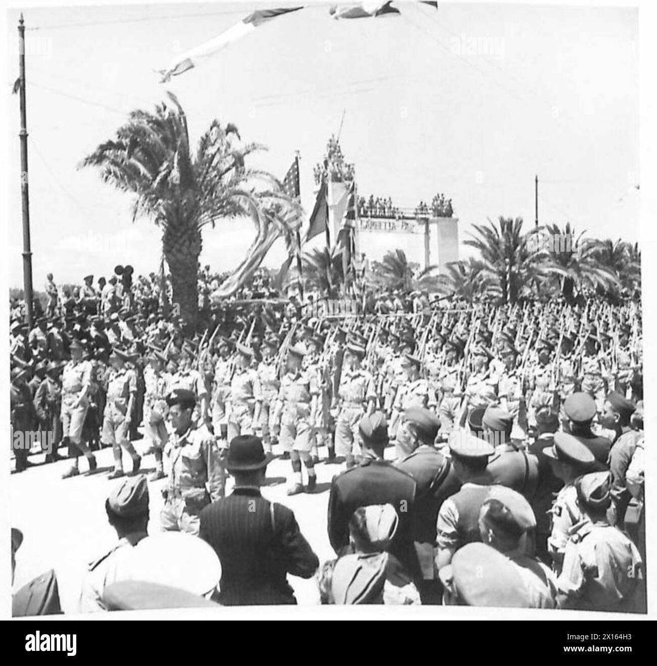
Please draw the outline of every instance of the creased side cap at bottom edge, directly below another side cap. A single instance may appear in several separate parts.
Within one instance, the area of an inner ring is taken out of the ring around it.
[[[386,581],[385,553],[344,555],[336,561],[331,580],[334,603],[373,603]]]

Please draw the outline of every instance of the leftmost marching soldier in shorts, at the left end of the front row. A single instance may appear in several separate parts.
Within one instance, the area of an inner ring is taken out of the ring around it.
[[[89,391],[91,390],[92,368],[87,360],[83,360],[84,347],[79,340],[73,340],[70,346],[71,360],[64,366],[62,374],[61,424],[62,436],[69,442],[73,466],[63,474],[63,478],[71,478],[80,474],[78,456],[82,452],[89,461],[89,472],[97,468],[96,458],[82,440],[82,429],[89,408]]]

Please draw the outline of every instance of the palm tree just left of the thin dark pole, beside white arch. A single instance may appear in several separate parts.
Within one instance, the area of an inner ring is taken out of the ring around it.
[[[514,303],[520,296],[538,290],[550,274],[557,272],[558,268],[547,262],[546,253],[536,250],[532,243],[536,229],[522,233],[522,218],[500,216],[497,225],[490,220],[488,225],[474,224],[476,234],[464,243],[478,250],[484,270],[500,288],[503,302]]]

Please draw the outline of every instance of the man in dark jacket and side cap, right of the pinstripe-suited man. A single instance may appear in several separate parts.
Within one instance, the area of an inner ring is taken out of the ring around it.
[[[382,412],[364,416],[358,424],[363,460],[338,474],[330,486],[329,541],[338,555],[348,552],[349,519],[360,506],[392,504],[399,527],[390,544],[390,553],[413,577],[419,575],[414,549],[413,512],[416,483],[412,476],[383,459],[388,444],[388,424]]]

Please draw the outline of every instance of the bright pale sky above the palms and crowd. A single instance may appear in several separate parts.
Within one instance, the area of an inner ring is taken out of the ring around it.
[[[25,11],[33,276],[80,282],[132,264],[157,270],[159,231],[133,224],[131,200],[83,157],[135,108],[164,97],[155,69],[266,4],[143,5]],[[18,13],[9,13],[15,43]],[[38,27],[38,30],[32,30]],[[192,140],[213,117],[269,147],[252,162],[280,178],[301,152],[302,200],[342,112],[342,150],[360,194],[415,206],[452,198],[460,238],[498,215],[638,240],[636,10],[425,5],[400,17],[334,21],[314,6],[257,29],[169,88]],[[473,50],[474,49],[474,50]],[[12,55],[13,57],[13,55]],[[17,68],[6,81],[11,87]],[[19,173],[18,97],[7,96],[9,174]],[[9,284],[22,284],[18,176],[9,189]],[[203,263],[229,270],[253,238],[249,220],[207,230]],[[318,240],[318,243],[321,240]],[[465,248],[463,254],[466,254]],[[265,260],[279,266],[277,244]]]

